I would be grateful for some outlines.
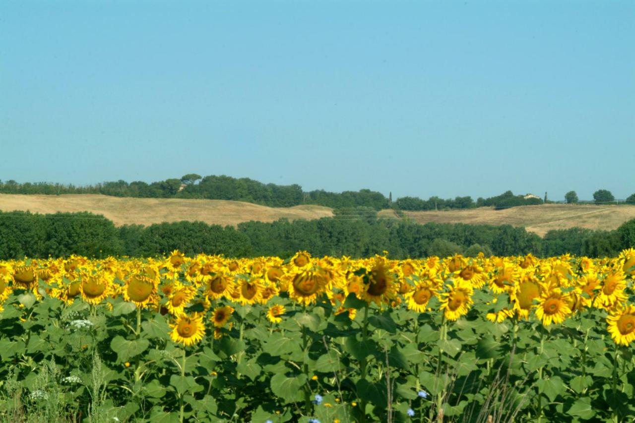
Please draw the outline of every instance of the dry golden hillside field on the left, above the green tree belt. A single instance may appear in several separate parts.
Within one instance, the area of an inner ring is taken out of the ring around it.
[[[60,196],[0,194],[0,210],[29,210],[32,213],[57,211],[90,211],[112,220],[115,225],[150,225],[181,220],[208,224],[237,225],[250,220],[273,222],[279,218],[315,219],[331,217],[330,208],[323,206],[295,206],[272,208],[241,201],[178,199],[178,198],[120,198],[98,194],[65,194]]]

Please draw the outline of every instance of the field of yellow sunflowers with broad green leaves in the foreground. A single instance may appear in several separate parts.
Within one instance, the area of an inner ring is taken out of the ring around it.
[[[635,419],[617,258],[0,262],[0,420]]]

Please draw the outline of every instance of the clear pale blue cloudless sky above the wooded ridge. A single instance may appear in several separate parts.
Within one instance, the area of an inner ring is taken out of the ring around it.
[[[9,1],[0,179],[635,192],[634,1]]]

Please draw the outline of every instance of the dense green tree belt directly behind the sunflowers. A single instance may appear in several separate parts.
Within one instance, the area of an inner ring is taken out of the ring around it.
[[[539,257],[573,253],[615,256],[635,246],[635,219],[615,231],[565,229],[544,238],[511,225],[417,224],[407,219],[381,219],[362,211],[358,218],[336,213],[319,220],[245,222],[237,227],[203,222],[175,222],[115,227],[106,218],[83,213],[50,215],[0,213],[0,258],[88,257],[129,255],[153,257],[180,250],[227,257],[275,255],[298,250],[314,255],[369,257],[389,251],[391,258],[523,255]]]

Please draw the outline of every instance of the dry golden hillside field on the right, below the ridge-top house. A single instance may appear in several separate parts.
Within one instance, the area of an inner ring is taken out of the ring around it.
[[[394,212],[384,210],[380,215],[394,215]],[[611,231],[627,220],[635,218],[635,206],[550,204],[512,207],[505,210],[481,207],[469,210],[406,211],[404,215],[421,224],[437,222],[524,226],[527,231],[544,236],[551,229],[570,227]]]

